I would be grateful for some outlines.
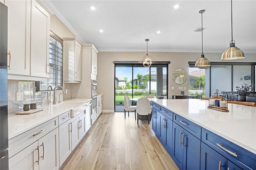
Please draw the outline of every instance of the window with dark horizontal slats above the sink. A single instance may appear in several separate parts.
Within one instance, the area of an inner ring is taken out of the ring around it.
[[[63,72],[63,46],[62,39],[54,33],[50,33],[50,75],[46,82],[36,82],[40,84],[40,91],[51,90],[57,85],[62,86]]]

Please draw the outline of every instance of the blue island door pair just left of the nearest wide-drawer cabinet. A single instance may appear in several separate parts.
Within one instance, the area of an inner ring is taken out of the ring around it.
[[[172,126],[172,159],[180,170],[200,169],[200,140],[176,123]]]

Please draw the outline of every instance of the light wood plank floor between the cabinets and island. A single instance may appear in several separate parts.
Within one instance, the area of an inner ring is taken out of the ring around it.
[[[126,113],[102,113],[63,170],[178,170],[151,129]]]

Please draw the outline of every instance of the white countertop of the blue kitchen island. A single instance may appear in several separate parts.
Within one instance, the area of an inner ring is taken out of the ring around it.
[[[228,103],[229,112],[221,112],[208,109],[207,100],[152,101],[256,154],[256,107]]]

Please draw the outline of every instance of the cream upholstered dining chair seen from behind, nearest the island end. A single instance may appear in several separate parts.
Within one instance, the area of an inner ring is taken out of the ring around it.
[[[151,117],[151,109],[150,102],[146,97],[142,97],[137,101],[137,124],[139,124],[139,116],[138,115],[148,115],[148,124]]]

